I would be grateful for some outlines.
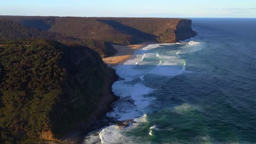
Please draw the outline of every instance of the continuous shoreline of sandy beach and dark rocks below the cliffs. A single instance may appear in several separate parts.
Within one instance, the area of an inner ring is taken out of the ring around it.
[[[104,111],[92,116],[88,122],[81,123],[80,126],[72,131],[69,131],[68,134],[62,137],[61,142],[63,143],[83,143],[86,140],[86,136],[90,133],[100,130],[109,125],[109,123],[116,123],[114,119],[110,119],[106,116],[107,112],[113,110],[112,104],[119,99],[117,95],[112,91],[112,85],[114,82],[119,80],[119,76],[115,73],[115,69],[113,67],[123,64],[129,59],[134,57],[135,50],[143,49],[150,44],[157,43],[141,43],[135,45],[113,45],[115,49],[118,50],[118,53],[114,56],[102,58],[103,62],[106,63],[107,67],[114,73],[114,76],[110,80],[110,85],[108,86],[107,93],[110,94],[110,103],[105,104]],[[94,124],[92,124],[94,123]],[[89,126],[91,125],[91,127]],[[53,141],[51,141],[53,142]],[[53,142],[54,143],[54,142]]]

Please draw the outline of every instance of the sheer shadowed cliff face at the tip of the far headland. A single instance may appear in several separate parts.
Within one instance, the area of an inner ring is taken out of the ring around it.
[[[176,41],[189,39],[191,37],[195,37],[197,34],[192,30],[192,22],[191,20],[180,20],[176,29],[174,30]]]

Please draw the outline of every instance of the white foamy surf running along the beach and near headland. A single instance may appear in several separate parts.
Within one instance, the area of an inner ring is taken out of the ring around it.
[[[195,45],[197,42],[190,41],[190,43],[176,44],[184,45],[185,50],[187,48],[185,46],[188,46],[188,44]],[[133,119],[135,123],[131,123],[131,126],[125,129],[120,129],[117,125],[110,125],[104,128],[99,134],[101,143],[134,143],[136,139],[140,139],[138,136],[127,137],[123,133],[133,127],[137,127],[141,123],[148,122],[146,113],[150,110],[150,103],[155,99],[150,97],[149,94],[155,89],[143,84],[145,76],[147,74],[176,76],[185,71],[186,65],[184,60],[178,56],[180,53],[186,53],[186,51],[181,50],[177,52],[177,50],[173,50],[168,53],[159,53],[153,49],[176,44],[148,45],[143,50],[136,50],[133,59],[129,59],[124,64],[114,67],[118,76],[124,80],[117,81],[112,86],[113,92],[115,95],[119,95],[120,99],[113,104],[114,110],[107,113],[107,116],[116,118],[119,121]],[[156,59],[155,57],[158,57],[158,59],[154,60]],[[161,58],[161,61],[159,61],[159,58]],[[193,110],[193,107],[183,104],[174,107],[174,110],[183,113]],[[149,130],[149,135],[153,135],[154,130],[159,129],[156,125],[153,125]]]

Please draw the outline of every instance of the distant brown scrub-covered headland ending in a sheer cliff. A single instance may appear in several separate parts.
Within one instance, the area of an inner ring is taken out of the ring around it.
[[[123,45],[138,44],[145,41],[175,43],[196,35],[196,32],[191,28],[191,20],[188,19],[0,16],[0,20],[13,21],[28,28],[36,28],[38,31],[48,32],[48,35],[59,34],[66,39],[73,38],[69,41],[76,43],[85,39]],[[56,38],[54,40],[60,41]],[[112,50],[101,52],[106,53],[108,51],[113,53]]]

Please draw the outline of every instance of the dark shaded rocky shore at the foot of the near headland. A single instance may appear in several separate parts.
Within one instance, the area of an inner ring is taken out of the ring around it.
[[[112,91],[112,85],[114,82],[118,81],[119,76],[115,73],[115,69],[110,67],[108,67],[108,69],[109,73],[112,73],[112,76],[105,80],[107,81],[107,84],[104,86],[106,97],[101,99],[102,106],[95,112],[95,115],[92,115],[86,122],[80,123],[77,128],[64,135],[61,138],[62,143],[83,143],[86,135],[92,131],[106,127],[112,122],[111,119],[106,117],[106,114],[113,110],[112,104],[119,99]],[[57,142],[51,141],[49,143]]]

